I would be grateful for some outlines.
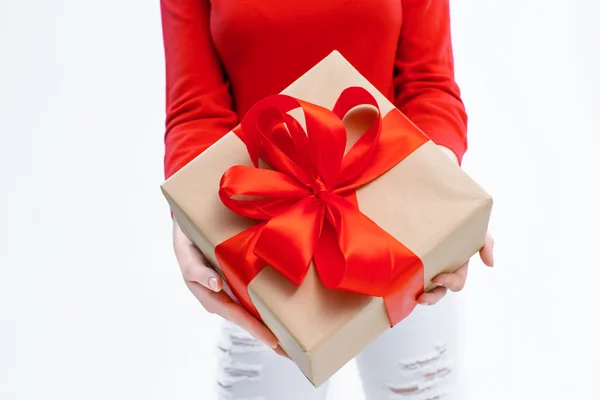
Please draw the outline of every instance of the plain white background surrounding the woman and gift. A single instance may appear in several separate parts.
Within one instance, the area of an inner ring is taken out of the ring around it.
[[[497,239],[460,294],[467,399],[600,399],[600,3],[452,12]],[[0,60],[0,398],[215,399],[219,320],[159,191],[158,1],[3,0]],[[355,374],[333,400],[362,399]]]

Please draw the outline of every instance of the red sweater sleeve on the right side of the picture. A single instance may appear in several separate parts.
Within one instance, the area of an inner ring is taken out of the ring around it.
[[[454,81],[449,0],[403,0],[395,62],[396,107],[459,160],[467,150],[467,114]]]

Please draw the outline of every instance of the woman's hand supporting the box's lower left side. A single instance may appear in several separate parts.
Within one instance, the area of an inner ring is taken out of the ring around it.
[[[185,284],[208,312],[233,322],[285,356],[275,335],[222,291],[223,280],[208,266],[204,255],[184,235],[177,223],[173,225],[173,247]]]

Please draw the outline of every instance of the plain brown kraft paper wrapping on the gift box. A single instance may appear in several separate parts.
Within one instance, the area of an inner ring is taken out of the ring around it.
[[[367,89],[382,115],[394,107],[338,52],[282,93],[332,108],[349,86]],[[357,109],[346,117],[350,144],[374,112]],[[294,116],[302,122],[302,115]],[[251,162],[230,132],[162,185],[181,229],[217,270],[215,246],[255,223],[219,199],[221,177],[233,165]],[[456,270],[479,251],[492,208],[491,197],[431,141],[358,189],[357,197],[363,214],[423,261],[425,290],[433,288],[434,276]],[[327,289],[313,268],[296,287],[266,267],[248,290],[264,323],[315,386],[390,328],[382,298]]]

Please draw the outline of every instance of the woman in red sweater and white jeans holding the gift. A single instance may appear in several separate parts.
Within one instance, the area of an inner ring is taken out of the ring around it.
[[[460,162],[466,123],[454,82],[448,0],[161,0],[167,71],[165,174],[175,173],[237,125],[261,98],[280,92],[332,50]],[[277,339],[232,302],[221,278],[174,226],[185,282],[229,322],[220,345],[224,399],[317,400]],[[492,265],[492,241],[481,251]],[[435,278],[418,301],[461,290],[467,266]],[[444,399],[456,395],[453,299],[419,307],[357,357],[366,396]],[[248,333],[246,333],[248,332]],[[256,339],[255,339],[256,338]],[[270,351],[269,347],[275,349]]]

